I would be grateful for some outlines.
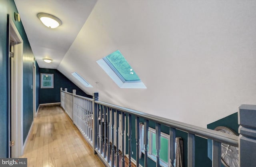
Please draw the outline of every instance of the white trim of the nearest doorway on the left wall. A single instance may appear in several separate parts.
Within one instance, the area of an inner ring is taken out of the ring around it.
[[[11,139],[15,141],[14,146],[11,147],[11,157],[20,157],[23,154],[23,40],[12,19],[10,19],[10,37],[14,40]]]

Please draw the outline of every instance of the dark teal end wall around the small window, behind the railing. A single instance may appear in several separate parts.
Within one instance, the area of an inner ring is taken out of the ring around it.
[[[68,88],[68,92],[72,93],[72,89],[76,89],[77,95],[82,95],[85,97],[92,98],[91,95],[87,95],[79,87],[77,87],[73,82],[61,74],[55,69],[40,68],[40,73],[54,74],[54,88],[53,89],[41,89],[40,88],[40,104],[43,103],[56,103],[60,102],[60,87]],[[40,74],[39,74],[40,75]]]

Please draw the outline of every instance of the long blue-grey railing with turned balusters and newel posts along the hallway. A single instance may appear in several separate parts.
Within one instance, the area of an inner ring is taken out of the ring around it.
[[[66,90],[66,89],[65,89]],[[93,93],[93,99],[63,91],[61,88],[61,105],[68,113],[72,113],[72,121],[92,145],[94,153],[97,153],[106,166],[125,166],[125,138],[126,128],[128,135],[128,166],[132,164],[132,135],[135,134],[136,142],[136,166],[139,166],[139,124],[140,118],[144,121],[144,164],[148,166],[148,128],[149,121],[156,123],[156,166],[160,167],[160,146],[161,146],[161,125],[169,127],[169,162],[170,167],[174,167],[175,160],[175,138],[176,129],[188,133],[188,167],[195,167],[195,136],[212,140],[212,167],[221,167],[221,143],[239,147],[239,167],[256,166],[256,105],[241,105],[239,110],[239,137],[206,129],[179,121],[159,117],[156,115],[143,113],[126,107],[113,105],[103,101],[98,101],[98,92]],[[63,95],[63,92],[65,95]],[[72,95],[72,103],[70,102]],[[65,105],[64,99],[65,97]],[[69,111],[72,105],[72,112]],[[68,108],[68,109],[67,109]],[[132,122],[132,115],[135,122]],[[114,119],[115,118],[115,119]],[[126,127],[127,119],[127,127]],[[132,132],[132,124],[135,123],[135,133]],[[119,143],[119,137],[120,143]],[[120,150],[120,151],[118,151]],[[121,152],[121,154],[120,154]]]

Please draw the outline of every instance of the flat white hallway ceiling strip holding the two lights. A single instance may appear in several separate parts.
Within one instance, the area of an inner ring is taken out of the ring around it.
[[[57,69],[78,32],[86,22],[97,0],[14,0],[30,46],[40,68]],[[40,12],[62,21],[50,29],[37,18]],[[42,59],[50,58],[47,64]]]

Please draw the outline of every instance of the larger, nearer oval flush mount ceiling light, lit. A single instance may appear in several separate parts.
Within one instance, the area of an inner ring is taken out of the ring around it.
[[[41,22],[49,28],[57,28],[58,26],[60,26],[62,24],[62,22],[60,21],[59,18],[51,15],[51,14],[47,14],[47,13],[38,13],[37,17],[41,20]]]

